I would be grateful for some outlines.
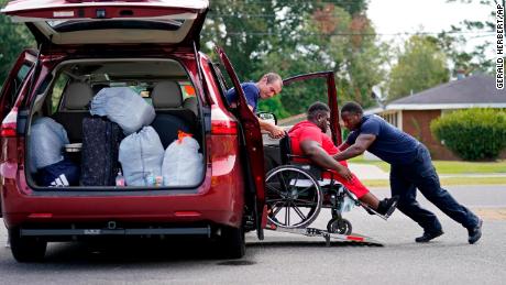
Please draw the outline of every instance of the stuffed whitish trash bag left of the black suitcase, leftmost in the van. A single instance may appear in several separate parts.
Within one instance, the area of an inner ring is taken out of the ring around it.
[[[67,131],[62,124],[47,117],[36,119],[30,133],[30,172],[36,173],[63,161],[63,147],[67,143]]]

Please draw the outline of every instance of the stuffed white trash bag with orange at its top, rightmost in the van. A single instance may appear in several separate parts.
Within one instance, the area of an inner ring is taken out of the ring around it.
[[[202,154],[197,140],[179,131],[178,140],[167,146],[162,165],[164,186],[193,186],[201,180]]]

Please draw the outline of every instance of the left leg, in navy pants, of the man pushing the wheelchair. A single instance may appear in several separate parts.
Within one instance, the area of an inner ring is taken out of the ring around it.
[[[392,165],[391,168],[391,189],[392,196],[398,196],[397,209],[404,215],[418,222],[425,232],[442,232],[441,223],[435,213],[420,207],[416,200],[417,193],[415,185],[405,178],[403,166]]]

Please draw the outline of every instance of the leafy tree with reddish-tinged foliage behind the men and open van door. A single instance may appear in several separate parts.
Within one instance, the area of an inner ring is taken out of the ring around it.
[[[284,42],[277,52],[265,56],[264,64],[280,67],[282,74],[333,70],[340,101],[355,100],[370,107],[371,87],[384,80],[385,46],[376,43],[374,30],[362,13],[326,3],[302,13],[297,41]],[[290,114],[306,111],[316,100],[327,101],[324,80],[290,88],[280,95]]]

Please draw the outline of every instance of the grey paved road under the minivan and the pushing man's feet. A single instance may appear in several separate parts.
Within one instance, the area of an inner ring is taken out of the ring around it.
[[[1,284],[505,284],[506,187],[449,187],[484,218],[475,245],[466,231],[438,211],[446,234],[428,244],[413,241],[420,228],[399,212],[387,221],[361,209],[346,215],[355,232],[382,240],[378,246],[332,244],[267,232],[265,241],[248,234],[241,261],[219,261],[206,243],[161,245],[52,243],[42,264],[19,264],[0,248]],[[386,189],[374,189],[378,196]],[[426,204],[420,199],[422,204]],[[427,204],[426,204],[427,205]],[[429,207],[433,209],[432,207]],[[323,228],[330,215],[314,226]],[[0,231],[0,243],[6,231]],[[107,248],[105,250],[103,248]]]

